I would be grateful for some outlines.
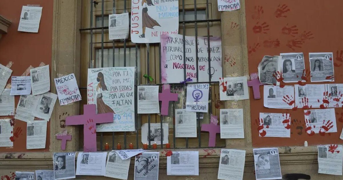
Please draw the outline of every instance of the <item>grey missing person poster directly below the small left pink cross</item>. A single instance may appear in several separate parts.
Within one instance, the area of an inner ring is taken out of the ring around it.
[[[55,180],[75,178],[75,154],[76,152],[54,153]]]

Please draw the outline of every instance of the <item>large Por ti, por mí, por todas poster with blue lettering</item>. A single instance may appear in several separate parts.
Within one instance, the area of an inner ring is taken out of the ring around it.
[[[113,122],[96,125],[97,132],[135,131],[135,67],[88,69],[87,104],[95,104],[97,113],[114,113]]]

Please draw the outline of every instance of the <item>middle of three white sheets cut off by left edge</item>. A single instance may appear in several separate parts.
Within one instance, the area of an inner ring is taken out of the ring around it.
[[[11,89],[4,89],[0,95],[0,116],[14,115],[14,96],[10,93]]]

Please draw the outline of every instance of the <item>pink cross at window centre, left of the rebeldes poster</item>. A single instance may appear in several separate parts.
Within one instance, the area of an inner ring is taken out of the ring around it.
[[[158,93],[158,100],[162,101],[161,115],[168,115],[169,101],[177,101],[178,94],[170,93],[170,85],[162,86],[162,93]]]

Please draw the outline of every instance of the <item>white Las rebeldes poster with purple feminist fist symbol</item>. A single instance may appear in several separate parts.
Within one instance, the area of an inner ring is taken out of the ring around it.
[[[208,112],[210,84],[187,84],[186,111]]]

